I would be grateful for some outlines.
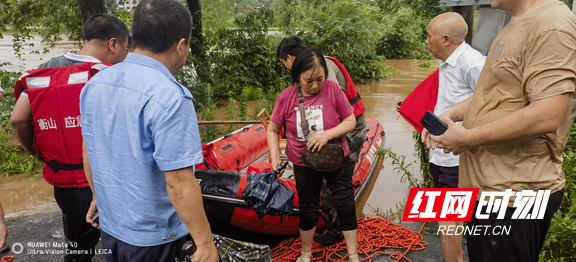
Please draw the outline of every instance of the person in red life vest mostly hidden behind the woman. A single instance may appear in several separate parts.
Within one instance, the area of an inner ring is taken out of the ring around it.
[[[276,53],[277,57],[282,60],[286,68],[292,70],[292,63],[296,59],[296,55],[302,51],[306,50],[306,42],[304,40],[291,36],[284,38],[280,45],[278,46],[278,51]],[[364,119],[364,103],[360,98],[360,94],[352,81],[352,78],[346,71],[346,68],[334,57],[326,56],[324,58],[326,61],[326,66],[328,67],[328,77],[326,80],[331,80],[340,86],[348,102],[352,105],[354,109],[354,116],[356,117],[356,127],[346,135],[346,140],[350,148],[350,153],[346,156],[350,165],[345,166],[345,172],[353,174],[354,167],[358,162],[360,156],[360,150],[364,145],[366,140],[366,120]],[[314,238],[314,241],[321,243],[326,246],[330,246],[340,241],[344,236],[342,231],[338,229],[338,219],[336,215],[336,209],[331,205],[331,194],[326,186],[326,181],[322,187],[322,214],[324,222],[326,223],[326,228],[329,232],[321,237]]]

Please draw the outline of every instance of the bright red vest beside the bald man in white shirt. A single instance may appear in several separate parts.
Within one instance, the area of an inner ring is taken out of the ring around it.
[[[422,129],[424,128],[420,124],[420,120],[424,117],[426,111],[434,112],[434,107],[436,107],[438,87],[440,86],[440,79],[438,78],[439,70],[440,69],[437,69],[424,79],[400,105],[400,115],[420,133],[422,133]]]

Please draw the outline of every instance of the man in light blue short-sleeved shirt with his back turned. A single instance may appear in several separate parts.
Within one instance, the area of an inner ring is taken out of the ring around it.
[[[191,29],[178,1],[141,1],[134,52],[80,95],[84,167],[95,192],[86,220],[101,227],[108,262],[182,259],[190,234],[194,261],[219,261],[193,170],[203,157],[192,95],[173,76],[186,62]]]

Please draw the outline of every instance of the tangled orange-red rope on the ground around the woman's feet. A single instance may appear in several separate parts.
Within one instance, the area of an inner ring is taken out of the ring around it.
[[[379,216],[366,216],[358,219],[358,254],[361,255],[360,261],[372,261],[376,255],[389,255],[392,259],[400,261],[412,261],[406,257],[410,250],[422,250],[428,245],[422,237],[422,229],[426,222],[420,228],[420,231],[412,231],[400,225],[392,223],[390,219]],[[317,234],[318,235],[318,234]],[[403,253],[399,251],[383,252],[381,249],[395,248],[405,249]],[[292,262],[296,261],[302,250],[300,237],[280,242],[280,245],[272,249],[272,261],[274,262]],[[342,252],[343,251],[343,252]],[[326,247],[316,242],[312,244],[312,261],[347,261],[346,241],[341,240],[338,243]],[[362,256],[364,255],[364,256]]]

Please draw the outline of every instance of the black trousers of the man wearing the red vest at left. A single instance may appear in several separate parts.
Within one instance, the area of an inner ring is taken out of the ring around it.
[[[71,254],[65,255],[64,261],[92,261],[94,247],[100,239],[100,230],[86,223],[86,213],[92,203],[92,190],[90,187],[54,187],[54,198],[62,210],[64,236],[68,244],[66,254]]]

